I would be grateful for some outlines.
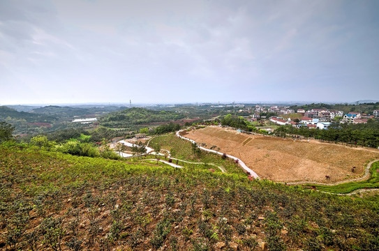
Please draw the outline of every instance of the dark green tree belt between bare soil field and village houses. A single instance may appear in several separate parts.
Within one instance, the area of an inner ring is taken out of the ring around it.
[[[379,121],[369,120],[367,123],[359,124],[332,124],[328,130],[309,129],[306,127],[294,128],[290,125],[280,126],[274,130],[279,137],[286,135],[302,135],[313,137],[328,142],[344,142],[361,146],[379,146]]]

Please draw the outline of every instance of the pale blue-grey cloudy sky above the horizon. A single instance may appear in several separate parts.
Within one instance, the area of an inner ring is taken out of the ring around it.
[[[129,100],[379,100],[379,1],[0,1],[0,105]]]

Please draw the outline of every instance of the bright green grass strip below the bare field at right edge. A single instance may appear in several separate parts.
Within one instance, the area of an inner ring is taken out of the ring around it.
[[[339,185],[315,185],[320,191],[334,193],[349,193],[364,188],[379,188],[379,161],[373,163],[370,169],[370,178],[366,181],[342,183]]]

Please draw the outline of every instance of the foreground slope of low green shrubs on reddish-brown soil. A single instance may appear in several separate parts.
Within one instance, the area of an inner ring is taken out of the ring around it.
[[[128,161],[0,146],[1,248],[379,248],[378,204],[359,197]]]

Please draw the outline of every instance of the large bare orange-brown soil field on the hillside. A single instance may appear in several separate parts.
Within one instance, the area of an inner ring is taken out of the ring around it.
[[[272,181],[341,181],[359,176],[368,160],[379,158],[377,149],[246,135],[214,126],[184,132],[184,136],[206,144],[208,149],[219,147],[221,152],[240,158],[261,178]],[[352,167],[356,167],[355,172]]]

